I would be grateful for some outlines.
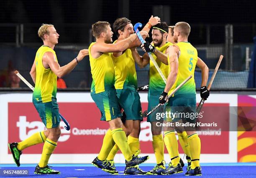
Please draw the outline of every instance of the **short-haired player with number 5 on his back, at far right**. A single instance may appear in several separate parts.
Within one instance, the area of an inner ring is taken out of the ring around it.
[[[201,84],[201,97],[208,98],[209,90],[206,88],[208,79],[207,65],[197,57],[197,50],[188,42],[190,33],[190,26],[188,23],[179,22],[174,27],[174,42],[176,45],[168,49],[169,61],[169,75],[167,78],[166,87],[159,97],[159,103],[164,104],[168,102],[167,107],[172,106],[172,112],[187,112],[195,113],[196,107],[196,91],[195,79],[190,79],[183,85],[170,99],[167,100],[168,93],[171,93],[177,85],[182,83],[189,75],[194,76],[195,65],[202,70],[202,84]],[[172,118],[173,122],[182,119],[183,122],[194,123],[196,119],[186,118]],[[201,167],[199,164],[200,159],[200,138],[198,137],[195,128],[186,127],[187,138],[189,143],[189,151],[191,156],[191,169],[185,175],[202,175]],[[179,153],[177,151],[177,140],[172,140],[172,167],[170,167],[166,174],[183,172],[182,166],[178,163]]]

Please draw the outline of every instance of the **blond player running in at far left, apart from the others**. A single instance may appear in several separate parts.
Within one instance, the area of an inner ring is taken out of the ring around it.
[[[30,75],[36,84],[33,92],[33,104],[46,126],[46,130],[34,133],[22,142],[9,143],[9,148],[16,165],[20,166],[22,150],[38,143],[44,143],[41,160],[36,166],[34,173],[60,174],[58,170],[53,170],[47,165],[61,134],[59,106],[56,99],[57,76],[61,78],[70,73],[84,56],[89,53],[87,49],[80,50],[75,59],[61,67],[54,51],[54,46],[58,44],[59,39],[59,34],[56,32],[54,25],[41,25],[38,30],[38,36],[43,40],[44,45],[36,52]]]

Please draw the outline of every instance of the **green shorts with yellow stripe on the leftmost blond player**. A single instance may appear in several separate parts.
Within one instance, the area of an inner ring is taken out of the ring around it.
[[[56,100],[47,103],[33,102],[33,104],[46,128],[55,128],[59,126],[59,106]]]

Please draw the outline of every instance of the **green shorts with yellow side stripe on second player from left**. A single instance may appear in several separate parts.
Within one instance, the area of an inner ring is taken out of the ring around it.
[[[103,91],[91,95],[92,99],[100,109],[100,120],[110,121],[121,117],[115,89]]]

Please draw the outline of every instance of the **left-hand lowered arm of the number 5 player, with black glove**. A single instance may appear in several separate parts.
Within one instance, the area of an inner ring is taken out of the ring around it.
[[[178,62],[178,54],[179,54],[179,48],[176,48],[174,46],[170,46],[168,49],[169,52],[169,68],[170,73],[167,78],[167,83],[164,88],[163,93],[159,97],[159,103],[164,104],[167,100],[167,94],[169,90],[172,88],[172,85],[174,85],[175,80],[177,79],[178,74],[178,68],[179,68],[179,62]]]

